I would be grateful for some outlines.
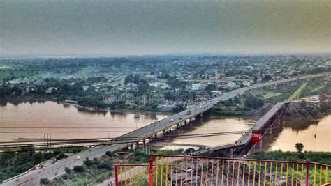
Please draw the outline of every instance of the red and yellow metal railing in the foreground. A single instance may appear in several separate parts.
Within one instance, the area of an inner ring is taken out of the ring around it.
[[[323,185],[331,181],[331,165],[314,162],[151,155],[148,166],[115,166],[115,178],[117,185],[121,186]]]

